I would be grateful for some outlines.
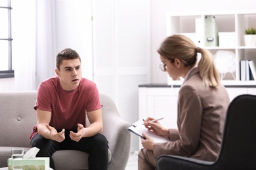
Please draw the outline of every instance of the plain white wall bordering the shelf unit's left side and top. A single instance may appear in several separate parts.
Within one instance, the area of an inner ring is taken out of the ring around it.
[[[167,84],[167,75],[158,68],[160,62],[156,50],[166,37],[167,12],[255,10],[255,0],[152,0],[151,1],[151,80],[152,83]]]

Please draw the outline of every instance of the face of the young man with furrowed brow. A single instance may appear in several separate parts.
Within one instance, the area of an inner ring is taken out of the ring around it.
[[[77,88],[81,80],[81,62],[77,59],[64,59],[60,70],[55,69],[56,75],[60,78],[60,85],[66,91]]]

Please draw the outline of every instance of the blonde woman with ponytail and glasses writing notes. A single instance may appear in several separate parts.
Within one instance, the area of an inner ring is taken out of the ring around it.
[[[146,139],[140,139],[143,148],[139,152],[139,169],[156,169],[156,160],[162,154],[215,161],[230,100],[219,80],[211,53],[183,35],[167,37],[158,53],[161,71],[167,72],[173,80],[184,78],[178,96],[178,129],[167,129],[159,122],[149,122],[154,118],[145,120],[148,130],[169,137],[169,142],[154,143],[152,138],[143,134]],[[197,64],[198,53],[202,57]]]

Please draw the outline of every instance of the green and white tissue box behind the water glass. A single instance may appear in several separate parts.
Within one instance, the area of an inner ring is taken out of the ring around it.
[[[7,161],[8,169],[12,170],[12,158]],[[37,157],[33,159],[23,159],[23,170],[48,170],[50,168],[50,158]]]

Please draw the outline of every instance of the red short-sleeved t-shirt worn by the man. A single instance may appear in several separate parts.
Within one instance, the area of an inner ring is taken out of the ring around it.
[[[86,111],[101,107],[98,89],[94,82],[81,78],[75,90],[65,91],[60,86],[58,76],[55,76],[39,84],[34,109],[52,112],[49,125],[61,130],[77,129],[77,124],[86,127]],[[33,128],[30,140],[36,134],[37,125]]]

